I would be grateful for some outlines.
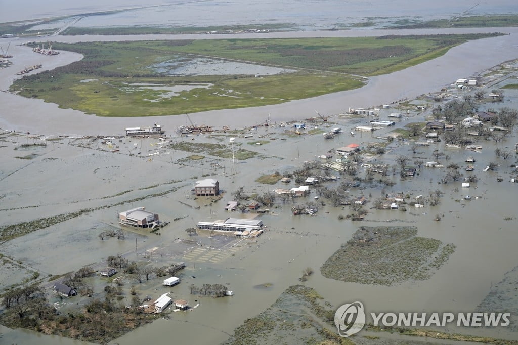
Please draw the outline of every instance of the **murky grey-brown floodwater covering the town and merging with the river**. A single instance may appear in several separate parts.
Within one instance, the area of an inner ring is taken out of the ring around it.
[[[517,57],[518,30],[514,28],[484,30],[512,34],[471,41],[451,49],[447,54],[433,61],[390,75],[369,78],[368,84],[361,89],[275,106],[192,114],[191,118],[196,123],[205,123],[213,127],[229,125],[236,128],[262,122],[267,118],[268,113],[271,115],[272,122],[279,123],[314,116],[314,109],[320,113],[336,115],[346,111],[348,107],[369,107],[437,91],[458,78],[476,76],[486,68]],[[467,30],[467,32],[470,31]],[[383,35],[388,32],[390,31],[380,31],[375,34]],[[421,30],[412,33],[425,32],[431,31]],[[364,33],[372,34],[372,32]],[[338,34],[350,35],[346,32],[276,35],[306,37]],[[100,36],[52,37],[53,40],[59,41],[99,38],[119,39]],[[149,36],[124,36],[124,40],[148,38]],[[198,36],[198,38],[207,37]],[[211,36],[211,38],[217,37]],[[231,36],[225,35],[224,38],[231,38]],[[9,87],[16,71],[22,68],[42,63],[45,69],[52,69],[81,58],[79,54],[68,52],[44,56],[32,53],[30,48],[13,45],[10,49],[13,55],[16,54],[17,59],[13,66],[0,70],[2,90]],[[508,95],[506,102],[498,106],[517,107],[516,92],[506,90],[506,95]],[[124,127],[144,126],[156,122],[162,124],[167,134],[172,136],[168,138],[169,140],[190,142],[191,138],[194,138],[194,142],[217,141],[203,136],[178,137],[173,131],[177,126],[185,124],[186,119],[183,116],[146,119],[99,118],[86,116],[79,111],[59,109],[55,104],[22,98],[7,92],[0,93],[0,103],[8,105],[8,107],[4,106],[0,116],[0,128],[6,130],[30,131],[41,135],[120,135]],[[415,112],[409,116],[411,121],[423,120],[422,115]],[[346,118],[337,116],[333,121],[347,130],[352,125]],[[329,127],[335,126],[335,124],[329,125]],[[379,130],[374,136],[391,129]],[[37,156],[33,160],[20,160],[15,156],[22,155],[20,154],[22,150],[15,150],[15,148],[20,143],[25,141],[28,143],[34,139],[24,135],[12,136],[11,141],[5,142],[5,146],[0,148],[2,152],[0,217],[2,219],[8,219],[10,223],[18,223],[82,208],[106,207],[4,243],[0,246],[0,251],[24,261],[45,274],[61,274],[78,269],[82,265],[99,263],[108,255],[117,253],[125,253],[131,260],[143,260],[142,253],[148,250],[150,251],[148,260],[155,260],[157,263],[168,262],[167,259],[185,261],[187,267],[183,273],[182,282],[171,290],[175,298],[188,299],[190,304],[199,303],[199,307],[190,312],[171,313],[168,320],[156,320],[113,341],[113,343],[130,345],[150,340],[156,344],[165,344],[170,343],[171,339],[199,344],[224,341],[236,326],[274,303],[287,286],[299,283],[298,278],[306,267],[312,267],[315,272],[306,284],[314,287],[335,307],[353,300],[361,300],[369,312],[469,312],[474,311],[491,291],[492,286],[502,280],[507,271],[516,266],[518,252],[515,250],[515,243],[518,235],[515,231],[515,219],[506,221],[503,218],[515,217],[515,210],[510,205],[514,205],[517,186],[509,182],[509,177],[512,176],[509,168],[512,164],[511,160],[507,162],[498,160],[500,167],[496,172],[481,171],[488,162],[496,160],[494,156],[496,145],[491,141],[480,142],[483,147],[481,153],[447,149],[441,142],[420,149],[419,154],[416,154],[430,157],[429,160],[431,160],[432,151],[439,149],[450,156],[451,162],[457,163],[464,162],[467,155],[474,155],[477,160],[475,173],[480,180],[469,189],[469,194],[473,197],[470,201],[456,201],[468,193],[460,188],[460,181],[446,185],[437,184],[444,172],[422,168],[420,175],[413,179],[399,181],[399,178],[394,178],[397,184],[393,188],[387,188],[387,191],[426,195],[430,190],[439,189],[445,194],[441,198],[441,204],[436,207],[427,206],[419,211],[409,209],[407,212],[371,210],[367,221],[351,222],[338,220],[338,215],[349,213],[347,208],[324,206],[314,217],[294,217],[290,212],[291,205],[283,206],[278,201],[278,208],[273,210],[276,215],[260,216],[269,228],[256,242],[242,241],[232,248],[229,245],[218,250],[207,248],[206,244],[199,248],[193,247],[188,252],[176,247],[171,249],[171,243],[177,239],[189,239],[184,229],[193,226],[195,222],[228,217],[223,207],[228,200],[231,200],[229,193],[240,186],[243,186],[249,194],[264,193],[276,186],[282,188],[280,184],[270,186],[253,182],[259,175],[296,169],[304,161],[313,160],[316,155],[328,149],[338,148],[351,142],[364,145],[368,141],[378,140],[370,134],[359,133],[354,138],[341,134],[333,140],[324,140],[322,135],[286,138],[281,134],[282,130],[283,128],[278,127],[260,128],[253,133],[253,138],[238,137],[237,142],[242,144],[241,147],[257,151],[266,157],[250,159],[236,165],[232,165],[227,159],[217,158],[181,165],[186,164],[182,159],[191,153],[170,150],[167,154],[164,148],[158,150],[160,147],[157,148],[157,146],[160,145],[152,139],[117,142],[120,147],[119,153],[99,150],[93,142],[88,147],[79,147],[73,145],[74,139],[63,139],[61,142],[48,142],[45,148],[24,149],[23,154],[33,152]],[[270,142],[261,146],[248,143],[253,144],[259,139],[259,135],[269,137]],[[223,137],[221,143],[226,143],[227,140],[227,137]],[[512,149],[516,141],[516,132],[513,132],[498,146]],[[383,156],[383,160],[394,159],[397,154],[412,155],[411,151],[408,151],[409,147],[406,143],[401,143],[400,147],[394,143],[395,151],[387,153]],[[135,148],[142,152],[142,158],[128,155],[130,150]],[[155,150],[161,153],[149,158],[147,154]],[[220,187],[226,190],[227,194],[219,203],[205,206],[208,205],[207,200],[190,198],[190,189],[196,178],[211,174],[210,163],[213,162],[225,166],[224,171],[217,170],[215,177],[219,179]],[[229,174],[230,172],[235,174]],[[497,182],[497,177],[502,177],[503,181]],[[340,180],[330,182],[328,186],[339,182]],[[156,184],[159,186],[154,186]],[[295,186],[295,184],[292,182],[289,186]],[[150,188],[142,189],[145,187]],[[178,188],[178,190],[139,202],[110,206],[172,188]],[[128,190],[131,191],[120,194]],[[372,194],[369,198],[375,199],[381,193],[381,187],[373,186],[363,191],[351,191],[354,195],[362,192],[365,195]],[[199,207],[199,209],[184,204]],[[145,206],[146,209],[159,213],[162,220],[181,219],[171,221],[168,227],[162,229],[161,236],[127,231],[125,240],[112,238],[101,241],[97,237],[105,227],[118,226],[116,218],[118,212],[138,206]],[[433,219],[438,213],[443,215],[443,219],[435,222]],[[231,215],[238,214],[231,213]],[[385,221],[389,219],[397,221],[386,223]],[[418,226],[419,236],[436,238],[444,243],[454,243],[457,249],[449,261],[426,281],[405,282],[386,287],[346,283],[322,277],[320,266],[361,225],[414,225]],[[210,243],[208,236],[208,234],[199,234],[196,237],[200,238],[197,239],[200,242]],[[140,254],[134,252],[135,239],[139,243]],[[154,250],[154,248],[159,249]],[[168,255],[176,255],[176,257],[168,257]],[[67,260],[63,260],[63,257]],[[160,279],[155,279],[143,284],[138,287],[139,292],[142,295],[151,292],[155,295],[161,294],[161,291],[154,290],[162,289],[160,282]],[[197,297],[189,294],[189,285],[192,283],[227,284],[229,290],[233,290],[235,295],[198,300]],[[264,283],[272,283],[272,285],[263,289],[255,288]],[[516,309],[518,308],[514,310]],[[500,310],[496,310],[498,311]],[[83,343],[60,337],[42,336],[26,330],[9,330],[2,327],[0,331],[2,341],[6,343]],[[507,339],[518,338],[515,333],[507,329],[470,328],[455,329],[455,331]],[[289,339],[286,341],[289,342]]]

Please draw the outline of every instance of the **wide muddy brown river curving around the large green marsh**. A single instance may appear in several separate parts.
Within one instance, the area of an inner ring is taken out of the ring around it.
[[[216,110],[203,113],[191,114],[191,118],[196,123],[206,123],[212,126],[232,124],[233,127],[250,126],[257,121],[262,121],[271,114],[274,122],[289,121],[294,119],[305,119],[314,116],[314,109],[321,113],[337,114],[347,111],[349,107],[369,107],[380,105],[392,100],[401,98],[412,98],[425,92],[432,92],[440,89],[445,84],[449,84],[461,77],[473,76],[482,69],[492,67],[502,61],[514,59],[516,57],[516,46],[518,46],[518,32],[516,28],[489,28],[489,29],[469,29],[469,30],[419,30],[419,31],[365,31],[357,32],[308,32],[308,33],[272,33],[268,37],[339,37],[357,35],[385,35],[385,34],[423,34],[423,33],[457,33],[457,32],[506,32],[511,35],[487,38],[467,42],[461,46],[451,49],[447,54],[418,66],[413,66],[390,75],[373,77],[369,83],[357,90],[337,92],[310,99],[301,99],[294,102],[245,109]],[[142,35],[142,36],[56,36],[52,39],[66,42],[73,41],[95,41],[95,40],[142,40],[142,39],[170,39],[170,38],[189,38],[189,35]],[[197,38],[207,38],[207,35],[196,35]],[[210,36],[217,38],[217,36]],[[223,38],[256,38],[257,35],[221,35]],[[266,37],[266,36],[261,36]],[[9,87],[10,81],[15,78],[15,73],[36,63],[44,63],[43,69],[53,68],[47,61],[55,60],[54,64],[70,63],[77,61],[78,54],[62,53],[55,56],[43,56],[33,53],[26,47],[16,47],[13,54],[19,54],[24,63],[17,63],[8,68],[0,70],[0,80],[2,90]],[[473,51],[477,54],[473,54]],[[498,52],[498,54],[495,54]],[[18,56],[18,55],[17,55]],[[44,59],[44,60],[42,60]],[[62,59],[62,60],[60,60]],[[36,71],[33,73],[37,73]],[[129,118],[99,118],[94,116],[84,116],[80,111],[57,109],[55,104],[45,103],[39,99],[25,99],[9,93],[0,93],[0,100],[3,104],[10,105],[10,111],[3,112],[0,117],[0,128],[7,130],[19,130],[22,132],[33,133],[67,133],[67,134],[100,134],[116,135],[127,126],[143,126],[142,122],[160,123],[167,130],[185,124],[183,116],[177,117],[149,117],[147,119]],[[27,111],[30,108],[32,112]],[[37,113],[38,117],[32,116]],[[218,120],[215,120],[218,119]],[[257,120],[260,119],[260,120]],[[59,124],[59,125],[56,125]]]

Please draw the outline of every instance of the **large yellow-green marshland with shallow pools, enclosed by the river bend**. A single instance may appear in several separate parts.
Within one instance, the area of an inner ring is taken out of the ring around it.
[[[362,87],[495,34],[54,44],[84,59],[10,90],[97,116],[164,116],[265,106]],[[202,72],[200,72],[202,71]]]

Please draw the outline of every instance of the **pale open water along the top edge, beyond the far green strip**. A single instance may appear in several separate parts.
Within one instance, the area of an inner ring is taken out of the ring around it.
[[[54,3],[54,4],[53,4]],[[50,15],[53,6],[61,3],[54,0],[45,11],[41,11],[38,4],[30,12],[23,13],[20,19],[55,17]],[[96,4],[97,3],[97,4]],[[505,14],[516,11],[515,5],[508,0],[496,0],[491,3],[473,3],[468,0],[454,3],[439,0],[432,3],[408,2],[405,0],[381,1],[372,0],[284,0],[282,2],[265,0],[249,2],[237,0],[221,2],[218,0],[206,1],[166,1],[160,4],[139,4],[135,1],[110,2],[98,4],[97,1],[84,4],[72,9],[62,6],[63,15],[97,12],[111,9],[135,8],[117,13],[90,15],[81,18],[74,26],[176,26],[176,27],[210,27],[220,25],[262,25],[284,24],[293,30],[322,30],[326,28],[343,28],[359,22],[376,22],[378,26],[391,26],[395,22],[412,22],[415,20],[445,19],[461,15],[488,15]],[[159,5],[159,6],[153,6]],[[0,17],[0,21],[17,20],[18,6],[12,8],[15,17]],[[28,7],[24,7],[26,10]],[[65,10],[63,10],[65,8]],[[38,10],[40,12],[38,12]],[[54,28],[55,24],[38,25],[34,30]]]

